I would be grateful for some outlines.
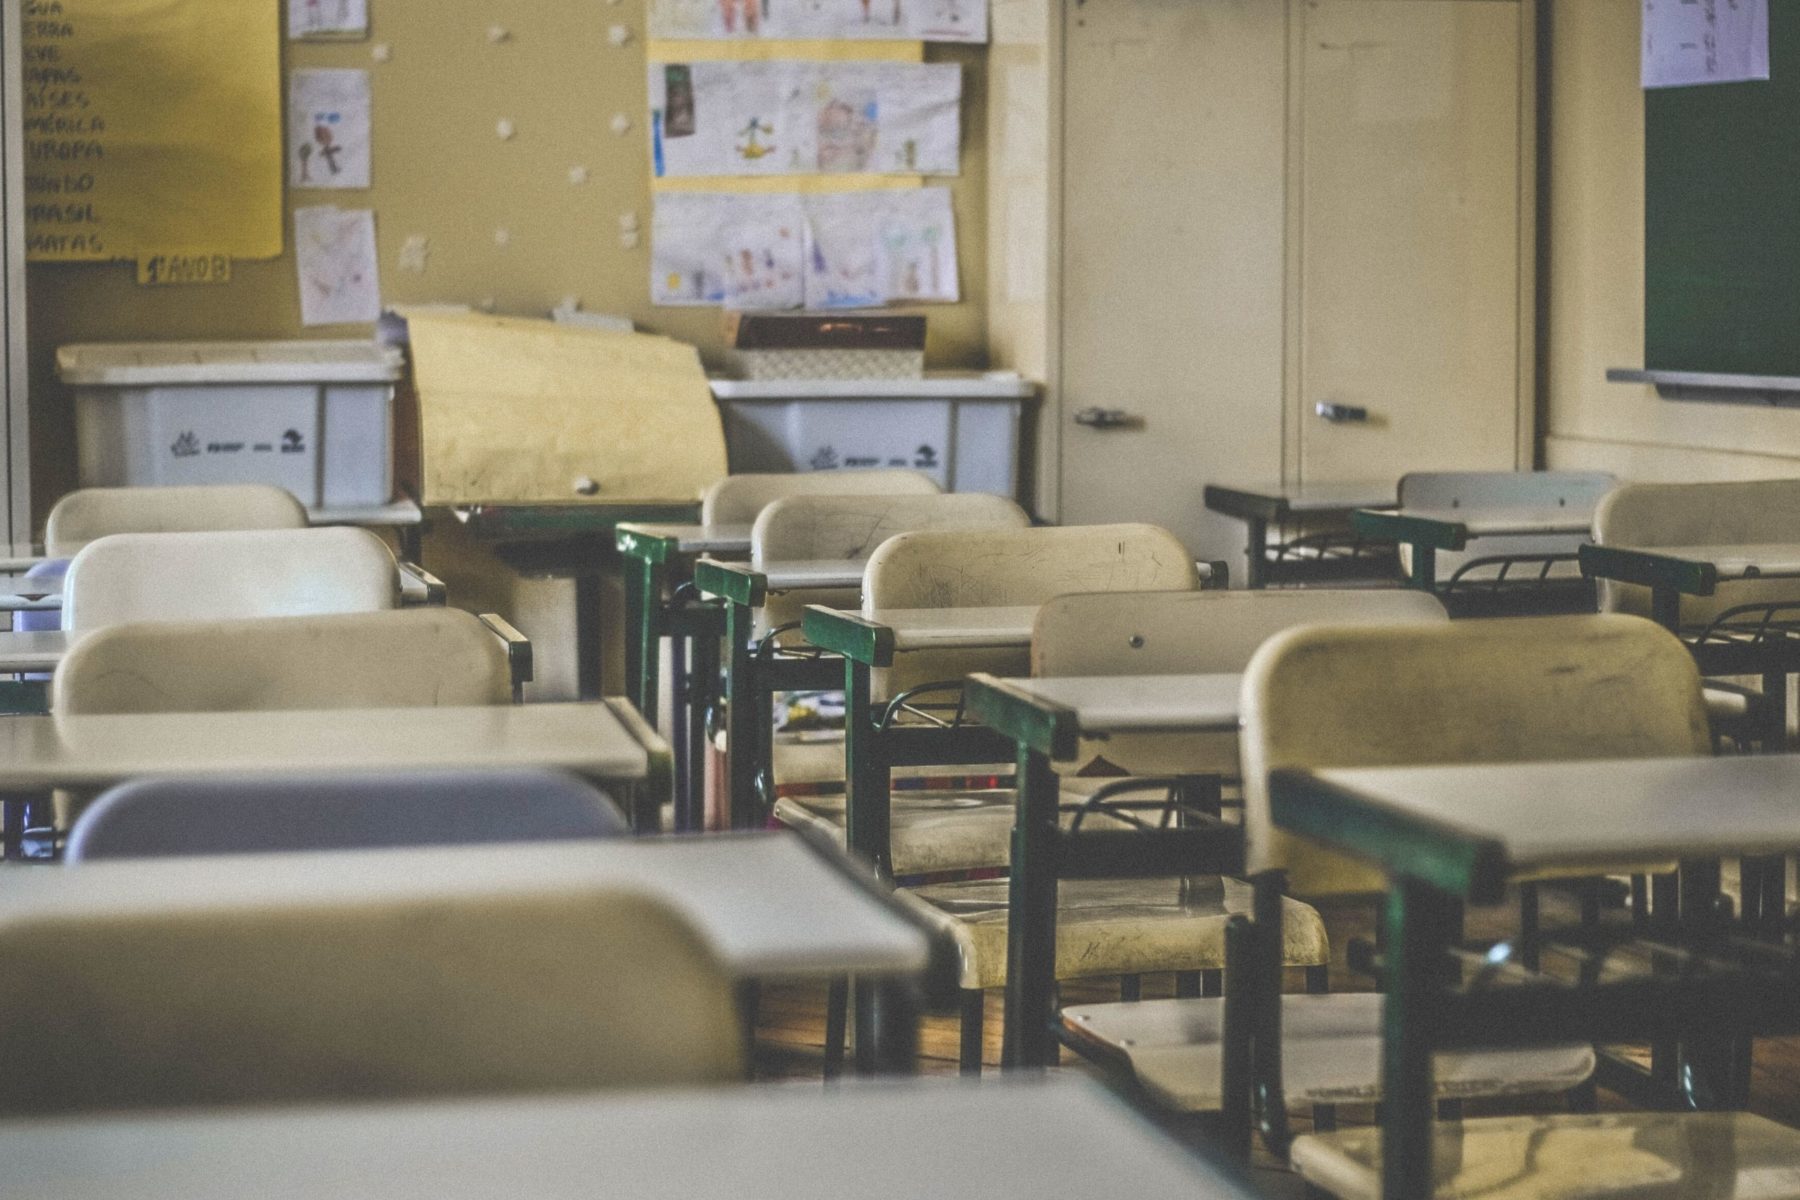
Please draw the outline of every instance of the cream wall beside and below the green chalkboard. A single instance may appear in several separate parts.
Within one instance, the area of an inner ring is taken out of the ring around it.
[[[1660,399],[1607,383],[1643,365],[1640,0],[1552,16],[1546,466],[1633,479],[1800,471],[1800,412]]]

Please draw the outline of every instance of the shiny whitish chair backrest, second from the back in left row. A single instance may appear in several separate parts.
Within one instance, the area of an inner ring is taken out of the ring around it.
[[[373,612],[400,604],[398,572],[367,529],[108,534],[68,565],[63,628]]]

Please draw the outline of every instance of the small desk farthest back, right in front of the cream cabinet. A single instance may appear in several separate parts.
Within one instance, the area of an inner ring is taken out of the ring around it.
[[[1339,529],[1355,509],[1393,507],[1393,480],[1206,484],[1204,500],[1213,513],[1244,522],[1244,552],[1249,561],[1244,587],[1382,579],[1399,569],[1391,545],[1354,533],[1346,538]],[[1294,538],[1285,536],[1289,524],[1300,525]],[[1309,524],[1316,527],[1309,531]],[[1283,540],[1276,545],[1269,545],[1269,525],[1283,531]]]

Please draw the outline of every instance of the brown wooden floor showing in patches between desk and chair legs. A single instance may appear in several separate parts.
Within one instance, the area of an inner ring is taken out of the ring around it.
[[[1546,892],[1546,921],[1570,916],[1566,905]],[[1373,927],[1373,912],[1366,905],[1325,909],[1327,928],[1332,939],[1332,986],[1334,990],[1366,990],[1370,981],[1352,975],[1345,966],[1343,954],[1352,937],[1368,937]],[[1494,909],[1471,914],[1471,937],[1501,937],[1512,928],[1516,914],[1508,909]],[[1291,981],[1300,988],[1298,975]],[[1145,977],[1145,999],[1172,995],[1170,977]],[[1064,984],[1066,1004],[1085,1004],[1116,1000],[1116,981],[1075,981]],[[767,988],[761,993],[756,1025],[756,1074],[760,1079],[805,1079],[819,1078],[824,1047],[824,988]],[[931,1076],[954,1076],[958,1070],[959,1025],[956,1013],[929,1015],[920,1036],[920,1072]],[[985,1072],[995,1074],[1001,1054],[1001,993],[988,993],[985,1027]],[[1094,1074],[1098,1070],[1071,1051],[1062,1052],[1062,1070]],[[1471,1105],[1471,1114],[1501,1114],[1528,1110],[1561,1110],[1557,1097],[1541,1101],[1507,1101]],[[1627,1105],[1611,1094],[1600,1094],[1602,1108],[1625,1108]],[[1757,1043],[1755,1072],[1751,1081],[1751,1110],[1784,1124],[1800,1126],[1800,1038],[1771,1038]],[[1370,1110],[1341,1110],[1345,1123],[1372,1121]],[[1206,1146],[1210,1132],[1199,1117],[1165,1117],[1159,1121],[1175,1137],[1195,1146]],[[1296,1128],[1305,1130],[1305,1121]],[[1256,1180],[1273,1196],[1300,1195],[1298,1182],[1267,1157],[1258,1155]]]

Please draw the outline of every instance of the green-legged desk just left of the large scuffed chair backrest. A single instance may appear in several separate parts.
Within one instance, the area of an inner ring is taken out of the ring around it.
[[[1082,835],[1064,829],[1057,763],[1075,761],[1084,739],[1114,734],[1235,734],[1240,687],[1240,675],[968,676],[968,711],[1017,747],[1006,955],[1008,1065],[1046,1067],[1057,1060],[1058,874],[1237,874],[1244,865],[1244,838],[1237,829],[1163,831],[1157,838],[1138,831]]]

